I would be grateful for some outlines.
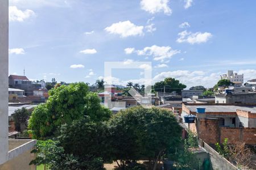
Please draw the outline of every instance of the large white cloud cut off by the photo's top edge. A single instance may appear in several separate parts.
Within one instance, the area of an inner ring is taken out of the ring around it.
[[[142,0],[141,8],[150,14],[155,14],[157,12],[164,12],[164,14],[171,15],[172,10],[168,6],[169,0]]]

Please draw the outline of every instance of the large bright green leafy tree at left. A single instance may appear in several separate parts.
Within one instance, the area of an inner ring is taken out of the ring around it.
[[[85,83],[62,85],[49,91],[46,104],[40,104],[32,112],[28,128],[33,138],[45,139],[55,134],[63,124],[87,117],[96,121],[110,117],[109,109],[100,105],[96,94],[89,93]]]

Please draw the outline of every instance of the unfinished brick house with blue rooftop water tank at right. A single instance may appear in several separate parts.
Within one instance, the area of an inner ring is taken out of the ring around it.
[[[183,103],[181,117],[189,114],[196,120],[184,125],[206,143],[222,143],[228,138],[231,143],[256,145],[256,105]]]

